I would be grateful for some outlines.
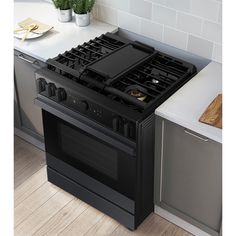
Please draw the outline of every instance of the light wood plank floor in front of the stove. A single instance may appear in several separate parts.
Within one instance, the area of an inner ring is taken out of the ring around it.
[[[44,152],[15,139],[15,236],[190,236],[151,214],[134,232],[47,181]]]

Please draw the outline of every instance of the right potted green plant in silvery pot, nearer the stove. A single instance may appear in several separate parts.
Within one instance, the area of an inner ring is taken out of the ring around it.
[[[75,13],[75,23],[78,26],[90,24],[90,12],[93,9],[95,0],[74,0],[72,8]]]

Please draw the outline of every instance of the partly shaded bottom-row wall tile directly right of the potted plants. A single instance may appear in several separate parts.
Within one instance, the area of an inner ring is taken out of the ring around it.
[[[118,24],[117,10],[110,7],[100,6],[100,5],[97,5],[97,7],[98,7],[98,18],[101,21],[105,21],[112,25]]]

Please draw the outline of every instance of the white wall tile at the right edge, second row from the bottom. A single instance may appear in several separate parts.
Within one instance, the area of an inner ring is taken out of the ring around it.
[[[202,36],[210,41],[222,43],[222,25],[204,21]]]

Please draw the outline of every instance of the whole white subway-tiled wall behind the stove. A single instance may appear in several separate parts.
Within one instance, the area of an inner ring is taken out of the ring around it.
[[[97,0],[94,16],[134,33],[222,61],[221,0]]]

